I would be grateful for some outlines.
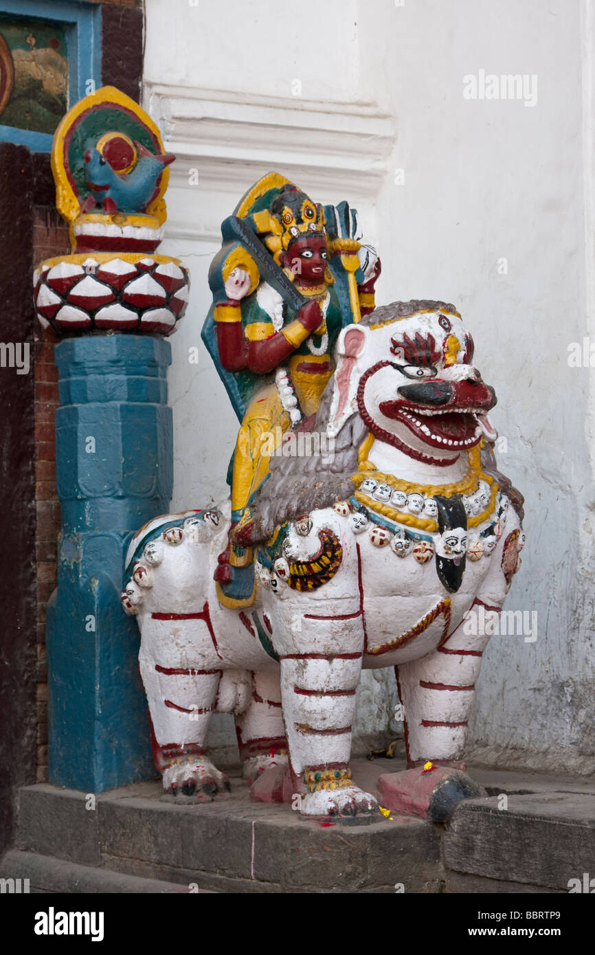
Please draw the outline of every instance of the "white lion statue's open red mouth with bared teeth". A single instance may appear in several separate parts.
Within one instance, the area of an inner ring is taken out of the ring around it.
[[[382,414],[401,421],[416,437],[433,448],[471,448],[483,435],[477,417],[478,414],[484,414],[483,409],[465,408],[444,412],[437,408],[405,407],[400,401],[383,401],[379,408]]]

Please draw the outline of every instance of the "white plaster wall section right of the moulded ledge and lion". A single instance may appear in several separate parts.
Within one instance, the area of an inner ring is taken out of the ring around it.
[[[362,46],[362,72],[373,65],[381,102],[397,117],[393,166],[405,172],[378,202],[383,262],[393,262],[383,297],[458,305],[499,395],[493,420],[508,441],[500,467],[526,498],[529,542],[506,606],[537,612],[538,635],[491,641],[475,753],[592,772],[593,587],[580,530],[589,539],[593,372],[567,364],[568,343],[589,331],[580,4],[388,6],[378,5]],[[463,98],[463,75],[480,69],[536,74],[537,104]]]

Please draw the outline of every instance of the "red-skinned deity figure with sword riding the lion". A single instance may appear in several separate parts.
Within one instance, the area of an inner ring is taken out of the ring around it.
[[[231,528],[215,580],[225,606],[255,597],[250,502],[287,432],[308,430],[334,371],[340,330],[374,308],[380,261],[347,202],[311,202],[268,173],[223,222],[202,329],[241,422],[230,462]],[[287,449],[283,449],[286,451]]]

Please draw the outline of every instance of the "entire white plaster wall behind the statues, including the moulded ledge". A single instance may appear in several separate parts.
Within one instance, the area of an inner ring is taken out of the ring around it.
[[[145,105],[180,157],[162,250],[193,282],[171,340],[174,509],[225,493],[237,423],[200,345],[206,273],[223,217],[278,169],[358,207],[382,255],[379,304],[443,298],[473,330],[499,395],[500,467],[526,498],[507,608],[538,614],[535,642],[488,647],[474,753],[592,772],[593,371],[567,364],[570,342],[595,342],[589,0],[303,0],[299,14],[147,0],[146,14]],[[465,99],[479,70],[536,74],[536,105]],[[365,674],[358,732],[386,726],[393,702],[392,674]],[[216,741],[231,742],[224,721]]]

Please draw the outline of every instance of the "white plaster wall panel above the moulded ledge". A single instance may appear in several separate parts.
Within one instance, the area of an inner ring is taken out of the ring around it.
[[[361,99],[356,0],[147,0],[144,75],[234,94]]]

